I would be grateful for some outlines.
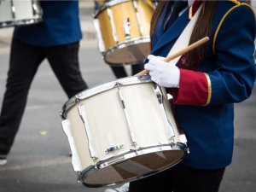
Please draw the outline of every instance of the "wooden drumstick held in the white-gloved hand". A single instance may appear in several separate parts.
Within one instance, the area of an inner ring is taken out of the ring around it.
[[[173,59],[175,59],[176,57],[183,55],[185,53],[188,53],[190,50],[195,49],[197,47],[199,47],[201,44],[205,44],[207,43],[207,41],[209,41],[208,37],[205,38],[201,38],[200,40],[196,41],[194,44],[190,44],[188,47],[181,49],[179,51],[177,51],[177,53],[167,56],[166,59],[164,61],[169,62],[172,61]],[[149,73],[148,70],[143,70],[140,73],[135,74],[134,76],[141,76],[141,75],[145,75]]]

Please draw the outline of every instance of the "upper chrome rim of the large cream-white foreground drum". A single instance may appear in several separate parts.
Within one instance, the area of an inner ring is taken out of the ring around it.
[[[87,90],[83,90],[76,94],[75,96],[71,97],[67,100],[62,106],[62,110],[60,112],[61,118],[66,119],[67,112],[70,108],[73,108],[73,106],[79,101],[86,98],[89,98],[90,96],[96,96],[99,93],[102,93],[107,90],[111,90],[119,85],[131,85],[131,84],[146,84],[146,83],[154,83],[149,75],[143,75],[143,76],[132,76],[132,77],[126,77],[122,79],[116,79],[113,81],[109,81],[104,84],[98,84],[95,85]]]

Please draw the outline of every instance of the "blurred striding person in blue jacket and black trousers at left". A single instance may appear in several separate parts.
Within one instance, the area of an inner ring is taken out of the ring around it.
[[[79,69],[79,1],[41,1],[43,20],[28,26],[16,26],[12,38],[9,72],[0,114],[0,165],[15,141],[32,79],[47,59],[70,98],[87,84]]]

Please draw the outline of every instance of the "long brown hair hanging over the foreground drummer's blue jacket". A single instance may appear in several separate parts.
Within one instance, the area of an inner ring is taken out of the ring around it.
[[[218,1],[201,1],[201,13],[199,14],[198,20],[195,23],[195,28],[191,34],[189,44],[193,44],[201,38],[210,35],[212,17],[214,15]],[[154,10],[154,15],[151,20],[150,37],[153,38],[154,28],[156,22],[160,16],[160,13],[164,9],[166,1],[160,1]],[[152,41],[151,41],[152,42]],[[152,46],[152,44],[151,44]],[[202,60],[202,49],[204,46],[200,46],[187,53],[186,56],[186,67],[195,68],[198,63]]]

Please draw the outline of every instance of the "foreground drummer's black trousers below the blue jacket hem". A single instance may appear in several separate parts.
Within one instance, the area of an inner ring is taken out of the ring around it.
[[[178,164],[131,182],[129,192],[218,192],[224,170],[199,170]]]

